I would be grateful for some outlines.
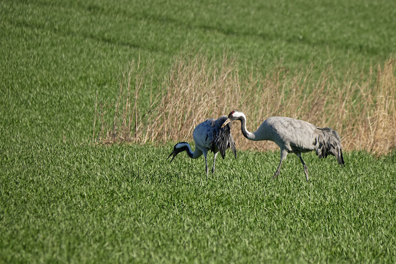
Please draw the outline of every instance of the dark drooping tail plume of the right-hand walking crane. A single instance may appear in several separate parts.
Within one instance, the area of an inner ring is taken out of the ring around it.
[[[322,131],[322,135],[319,135],[319,137],[315,139],[315,141],[318,142],[314,142],[315,145],[319,143],[316,149],[316,155],[318,155],[319,158],[327,158],[329,154],[333,155],[337,158],[340,165],[342,164],[345,166],[343,152],[341,150],[341,140],[337,131],[334,131],[331,127],[318,127],[318,129]]]

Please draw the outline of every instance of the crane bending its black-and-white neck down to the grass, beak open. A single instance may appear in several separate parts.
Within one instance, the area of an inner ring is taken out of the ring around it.
[[[172,162],[176,155],[183,151],[187,151],[188,157],[192,159],[199,158],[204,154],[206,179],[208,179],[208,161],[206,159],[208,151],[211,150],[214,152],[212,173],[215,171],[216,156],[219,152],[221,157],[224,159],[225,150],[231,147],[236,158],[235,143],[230,131],[231,124],[224,124],[226,120],[227,116],[221,116],[217,120],[214,120],[213,118],[207,119],[206,121],[198,124],[192,132],[192,138],[195,143],[194,152],[192,152],[190,144],[187,142],[179,142],[173,147],[173,151],[169,154],[168,159],[173,154],[173,158],[171,159]]]

